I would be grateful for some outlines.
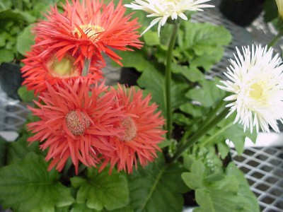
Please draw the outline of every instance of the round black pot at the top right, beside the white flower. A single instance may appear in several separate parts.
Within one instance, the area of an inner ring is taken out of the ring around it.
[[[265,0],[221,0],[219,9],[237,25],[246,27],[260,16]]]

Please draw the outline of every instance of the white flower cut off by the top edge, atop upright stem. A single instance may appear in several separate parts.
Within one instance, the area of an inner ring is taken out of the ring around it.
[[[146,11],[150,13],[146,17],[157,17],[151,21],[150,25],[141,35],[158,23],[158,36],[160,36],[161,26],[165,25],[168,18],[172,20],[178,17],[187,20],[185,11],[202,11],[202,8],[214,7],[213,5],[203,4],[210,0],[135,0],[125,6],[133,10]]]

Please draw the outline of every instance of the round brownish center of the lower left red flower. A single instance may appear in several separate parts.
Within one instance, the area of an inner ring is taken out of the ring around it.
[[[72,110],[68,112],[66,116],[66,124],[74,136],[80,136],[88,129],[91,125],[86,115],[81,112],[81,117],[79,117],[78,112]]]

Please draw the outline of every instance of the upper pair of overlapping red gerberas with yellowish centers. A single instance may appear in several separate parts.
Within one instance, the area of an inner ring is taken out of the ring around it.
[[[105,66],[102,53],[122,65],[114,50],[140,48],[137,19],[125,16],[125,7],[120,1],[115,7],[111,1],[99,0],[66,1],[63,13],[57,6],[33,28],[35,45],[22,69],[28,90],[35,94],[46,90],[45,82],[54,85],[65,78],[81,76],[86,61],[90,63],[93,81],[103,78]]]

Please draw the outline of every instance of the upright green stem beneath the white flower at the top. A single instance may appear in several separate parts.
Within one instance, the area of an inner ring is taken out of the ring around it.
[[[180,23],[175,23],[168,45],[167,59],[166,59],[166,113],[167,113],[167,139],[170,139],[172,133],[172,106],[171,106],[171,64],[173,57],[173,49],[175,47],[175,41],[177,38],[178,28]]]

